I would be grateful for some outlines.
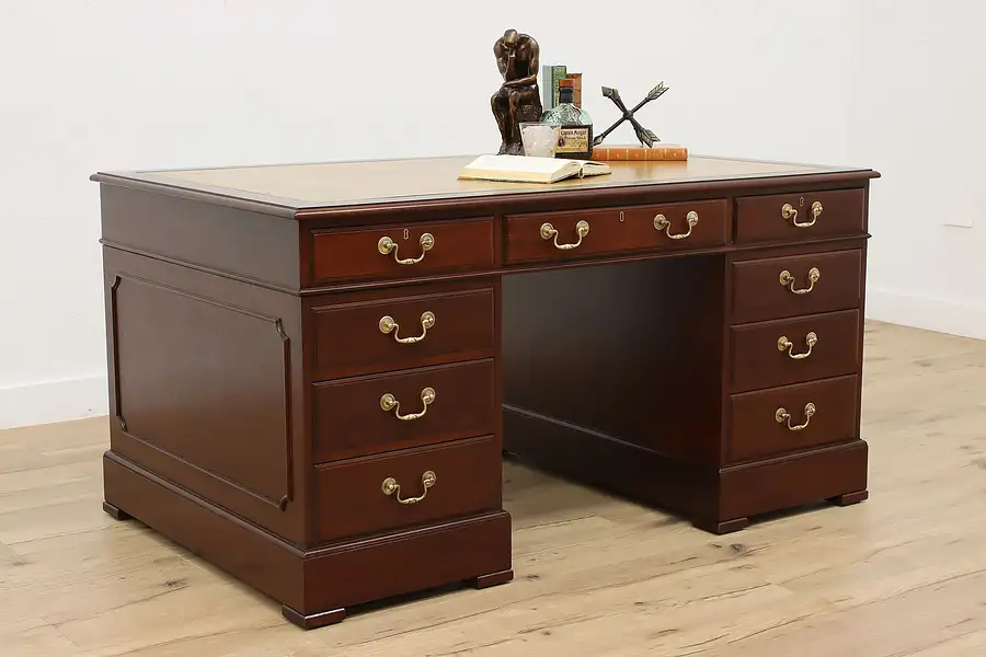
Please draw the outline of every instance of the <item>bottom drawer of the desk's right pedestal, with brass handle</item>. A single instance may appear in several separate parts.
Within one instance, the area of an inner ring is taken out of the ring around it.
[[[771,388],[730,397],[731,463],[858,437],[857,376]]]

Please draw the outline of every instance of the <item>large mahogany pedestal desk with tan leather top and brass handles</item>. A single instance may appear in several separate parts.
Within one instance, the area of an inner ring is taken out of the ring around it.
[[[504,449],[719,533],[865,499],[878,173],[470,160],[94,175],[106,510],[313,627],[508,581]]]

